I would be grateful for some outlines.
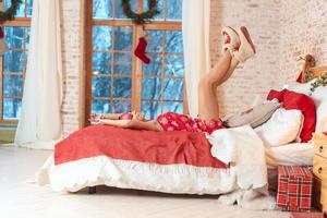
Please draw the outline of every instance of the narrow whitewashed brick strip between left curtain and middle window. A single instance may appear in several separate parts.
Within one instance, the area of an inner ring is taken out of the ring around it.
[[[80,73],[80,4],[81,0],[61,0],[63,62],[63,134],[78,129]]]

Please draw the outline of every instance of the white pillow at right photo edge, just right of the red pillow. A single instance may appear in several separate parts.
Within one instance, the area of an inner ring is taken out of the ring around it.
[[[325,132],[327,131],[327,86],[317,87],[311,97],[317,108],[316,132]]]

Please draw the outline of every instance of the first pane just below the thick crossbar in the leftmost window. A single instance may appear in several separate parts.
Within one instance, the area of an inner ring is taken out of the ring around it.
[[[4,27],[4,40],[10,49],[24,48],[24,27]]]

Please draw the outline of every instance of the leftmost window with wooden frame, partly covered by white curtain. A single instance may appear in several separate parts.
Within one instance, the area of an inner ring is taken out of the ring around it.
[[[32,0],[23,0],[15,20],[2,26],[9,51],[0,56],[0,123],[15,124],[21,113],[23,83],[26,72]],[[0,3],[1,10],[11,0]]]

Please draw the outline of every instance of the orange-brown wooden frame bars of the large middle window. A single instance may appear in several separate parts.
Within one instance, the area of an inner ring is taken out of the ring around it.
[[[113,109],[113,100],[120,100],[120,98],[113,98],[113,90],[114,90],[114,86],[113,86],[113,78],[114,77],[128,77],[128,76],[121,76],[121,75],[116,75],[113,72],[113,59],[114,59],[114,55],[117,53],[117,51],[114,50],[114,40],[116,40],[116,36],[114,36],[114,31],[117,26],[131,26],[133,29],[133,35],[132,35],[132,87],[131,87],[131,98],[123,98],[123,100],[129,100],[131,99],[131,110],[136,110],[140,111],[142,109],[142,100],[144,101],[148,101],[149,99],[142,99],[142,83],[143,83],[143,77],[149,77],[148,75],[143,75],[143,63],[140,59],[137,59],[135,56],[133,56],[133,51],[135,49],[135,47],[137,46],[138,43],[138,38],[142,36],[144,31],[162,31],[164,32],[164,40],[162,40],[162,48],[164,50],[161,52],[150,52],[154,55],[160,55],[162,57],[161,60],[161,69],[160,69],[160,75],[158,76],[158,78],[161,82],[161,87],[160,87],[160,99],[158,100],[152,100],[152,101],[158,101],[160,102],[160,107],[161,107],[161,112],[164,110],[164,102],[168,101],[168,102],[182,102],[182,100],[165,100],[164,99],[164,87],[165,87],[165,80],[167,78],[184,78],[184,76],[166,76],[165,75],[165,64],[166,64],[166,56],[169,55],[175,55],[179,56],[181,53],[179,52],[167,52],[166,51],[166,31],[181,31],[181,22],[167,22],[167,16],[168,16],[168,9],[167,9],[167,0],[164,1],[164,20],[162,21],[153,21],[152,23],[145,23],[144,25],[135,25],[133,24],[131,21],[129,20],[116,20],[114,17],[117,16],[116,14],[116,4],[118,0],[112,1],[112,20],[94,20],[93,19],[93,2],[92,0],[89,0],[89,4],[88,4],[88,13],[87,13],[87,29],[90,29],[88,32],[88,35],[86,36],[86,38],[88,39],[88,43],[86,43],[86,47],[89,46],[92,47],[92,28],[94,25],[104,25],[104,26],[111,26],[112,27],[112,50],[111,52],[111,73],[109,76],[111,76],[111,96],[110,96],[110,101],[111,101],[111,110]],[[143,12],[143,3],[144,0],[137,0],[137,12]],[[86,39],[86,40],[87,40]],[[92,50],[92,49],[89,49]],[[86,62],[89,62],[88,68],[86,68],[86,72],[87,74],[92,73],[92,52],[88,50],[88,52],[86,52]],[[101,52],[101,51],[99,51]],[[124,51],[120,51],[120,52],[124,52]],[[128,52],[128,51],[125,51]],[[129,51],[130,52],[130,51]],[[87,70],[88,69],[88,70]],[[154,78],[157,78],[157,76],[155,76]],[[90,95],[88,98],[89,101],[88,104],[86,104],[86,111],[90,111],[90,105],[92,105],[92,76],[88,76],[88,78],[86,78],[86,83],[88,84],[87,89],[89,93],[88,95]],[[184,95],[185,96],[185,95]],[[94,98],[94,99],[98,99],[98,98]],[[185,102],[185,100],[184,100]],[[185,104],[184,104],[184,111],[185,111]],[[89,112],[86,112],[86,119],[88,118]]]

